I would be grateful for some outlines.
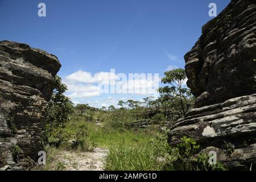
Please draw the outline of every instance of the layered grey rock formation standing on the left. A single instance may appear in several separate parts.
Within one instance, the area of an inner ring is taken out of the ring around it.
[[[0,154],[10,166],[36,159],[44,110],[53,77],[61,65],[56,56],[26,44],[0,42]],[[19,152],[19,159],[12,153]]]

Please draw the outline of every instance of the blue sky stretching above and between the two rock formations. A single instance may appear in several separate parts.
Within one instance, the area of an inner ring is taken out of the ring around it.
[[[46,4],[46,17],[38,4]],[[0,40],[27,43],[59,57],[76,103],[101,107],[150,94],[99,94],[97,84],[116,73],[163,73],[184,68],[183,56],[230,0],[0,0]],[[85,81],[81,81],[81,79]],[[100,81],[99,81],[100,80]]]

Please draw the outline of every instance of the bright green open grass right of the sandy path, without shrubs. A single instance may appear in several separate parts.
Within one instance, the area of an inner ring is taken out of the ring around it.
[[[103,125],[108,125],[104,122]],[[82,117],[73,118],[66,124],[68,131],[84,128],[88,131],[90,139],[98,147],[109,148],[106,157],[105,169],[115,170],[159,170],[160,164],[154,157],[154,151],[148,143],[154,137],[157,126],[146,129],[114,129],[112,127],[99,127],[95,123],[86,122]]]

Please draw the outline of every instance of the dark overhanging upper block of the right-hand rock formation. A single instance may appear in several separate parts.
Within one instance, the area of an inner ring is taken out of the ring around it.
[[[201,107],[255,93],[256,5],[233,0],[203,26],[185,55],[187,85]]]

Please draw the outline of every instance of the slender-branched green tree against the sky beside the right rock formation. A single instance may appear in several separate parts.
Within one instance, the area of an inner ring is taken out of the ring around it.
[[[184,69],[174,69],[164,73],[163,84],[169,84],[159,88],[160,97],[163,101],[171,102],[172,107],[184,116],[193,105],[193,97],[190,89],[184,84],[186,80]]]

